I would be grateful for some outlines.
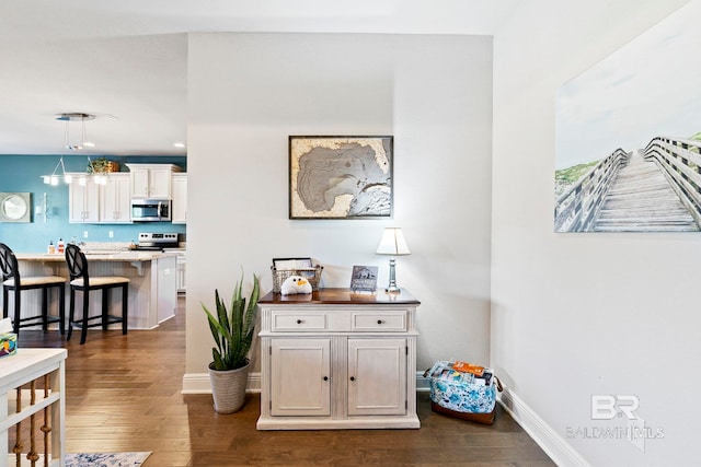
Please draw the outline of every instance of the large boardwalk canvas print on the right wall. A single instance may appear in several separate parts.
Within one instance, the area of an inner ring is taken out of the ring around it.
[[[556,96],[555,232],[701,225],[701,0]]]

